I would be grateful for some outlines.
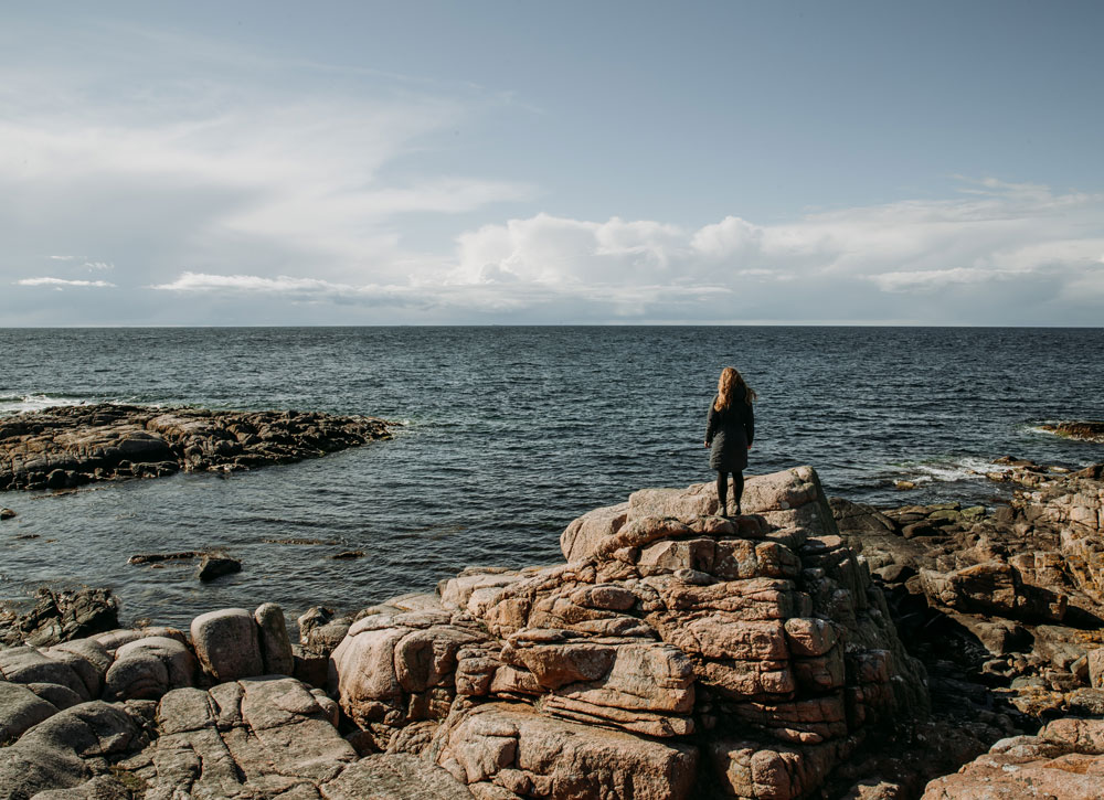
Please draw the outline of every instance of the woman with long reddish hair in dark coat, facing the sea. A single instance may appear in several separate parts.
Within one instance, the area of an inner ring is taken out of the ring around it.
[[[740,515],[740,498],[744,493],[744,470],[747,468],[747,451],[755,438],[755,413],[752,403],[755,392],[744,383],[743,376],[731,366],[721,371],[716,382],[716,396],[709,407],[705,419],[705,447],[709,466],[716,470],[716,501],[721,516],[729,515],[729,473],[732,473],[733,495],[736,500],[736,516]]]

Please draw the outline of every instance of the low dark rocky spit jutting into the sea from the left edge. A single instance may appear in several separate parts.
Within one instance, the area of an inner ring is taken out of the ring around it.
[[[65,406],[0,419],[0,490],[288,463],[390,438],[373,417]]]

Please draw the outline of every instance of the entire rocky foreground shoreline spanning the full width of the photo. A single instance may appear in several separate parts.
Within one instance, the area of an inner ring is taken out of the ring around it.
[[[185,632],[42,596],[0,646],[0,800],[1095,798],[1104,467],[1010,467],[994,511],[808,467],[731,520],[641,490],[562,564],[315,608],[295,644],[272,604]]]

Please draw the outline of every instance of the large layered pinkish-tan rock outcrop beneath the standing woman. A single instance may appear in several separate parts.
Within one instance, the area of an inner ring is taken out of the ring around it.
[[[869,732],[924,716],[923,670],[811,469],[751,479],[743,508],[645,490],[573,522],[565,564],[367,609],[330,659],[352,740],[478,798],[819,791]]]

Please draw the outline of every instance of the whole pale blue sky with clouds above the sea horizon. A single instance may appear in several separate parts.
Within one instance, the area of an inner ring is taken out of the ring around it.
[[[1104,324],[1096,0],[0,2],[0,327]]]

